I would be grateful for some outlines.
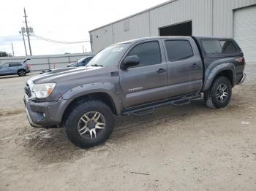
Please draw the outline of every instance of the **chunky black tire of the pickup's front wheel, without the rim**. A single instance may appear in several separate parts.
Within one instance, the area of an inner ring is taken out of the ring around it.
[[[78,122],[83,114],[88,112],[99,112],[105,117],[105,129],[94,139],[85,139],[78,132]],[[105,142],[114,128],[113,112],[109,106],[102,101],[85,101],[82,104],[74,106],[64,120],[64,128],[69,141],[81,148],[94,147]]]

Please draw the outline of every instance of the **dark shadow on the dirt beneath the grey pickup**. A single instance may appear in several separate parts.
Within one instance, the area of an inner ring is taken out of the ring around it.
[[[106,144],[90,149],[75,147],[67,139],[64,129],[36,129],[34,133],[31,133],[31,136],[23,138],[23,146],[26,147],[26,152],[29,152],[29,155],[32,155],[34,160],[39,163],[65,163],[87,157],[91,152],[112,150],[125,141],[127,134],[143,136],[145,131],[151,130],[151,128],[155,128],[162,123],[171,122],[177,118],[188,120],[189,117],[206,111],[210,112],[211,109],[204,105],[203,100],[196,100],[192,101],[192,104],[184,106],[164,106],[157,109],[153,114],[143,117],[116,117],[116,128]],[[132,139],[138,139],[138,136],[129,136],[129,139],[131,137]]]

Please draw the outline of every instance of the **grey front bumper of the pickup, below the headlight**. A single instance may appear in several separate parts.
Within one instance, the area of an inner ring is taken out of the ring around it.
[[[26,115],[34,128],[59,128],[67,100],[37,103],[24,96]]]

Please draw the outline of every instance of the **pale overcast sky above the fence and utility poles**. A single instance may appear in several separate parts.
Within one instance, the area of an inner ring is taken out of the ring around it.
[[[23,23],[23,7],[29,16],[29,26],[34,34],[47,39],[66,42],[89,40],[91,29],[127,17],[143,9],[154,7],[166,0],[8,0],[1,1],[0,7],[0,51],[25,55],[23,39],[18,33]],[[28,43],[27,51],[29,53]],[[91,50],[89,43],[56,44],[31,37],[33,55],[62,54]]]

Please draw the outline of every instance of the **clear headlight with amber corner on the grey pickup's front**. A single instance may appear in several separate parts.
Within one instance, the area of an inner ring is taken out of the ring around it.
[[[56,83],[34,84],[31,93],[34,93],[36,98],[47,98],[51,93]]]

